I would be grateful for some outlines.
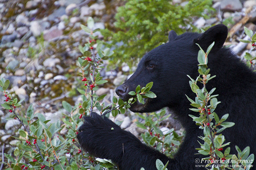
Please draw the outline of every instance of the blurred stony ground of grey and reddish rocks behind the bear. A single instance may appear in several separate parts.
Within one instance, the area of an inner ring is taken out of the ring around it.
[[[75,63],[81,56],[78,45],[84,44],[88,37],[80,24],[85,24],[92,16],[96,28],[111,28],[116,8],[123,4],[119,0],[0,0],[0,78],[10,80],[10,92],[15,92],[20,99],[25,98],[25,107],[33,103],[35,112],[59,121],[64,112],[62,100],[70,104],[80,101],[73,86],[78,84],[74,76],[77,73]],[[238,39],[247,38],[244,26],[255,31],[256,0],[213,0],[212,7],[216,9],[214,18],[195,18],[193,24],[203,28],[230,20],[226,45],[232,44],[234,52],[243,57],[252,46]],[[107,64],[105,61],[104,66]],[[104,69],[101,75],[109,83],[96,93],[107,93],[104,101],[110,103],[116,95],[115,87],[122,84],[133,69],[125,64],[121,68]],[[1,95],[0,101],[4,99]],[[10,113],[5,111],[0,110],[0,116],[0,143],[11,142],[12,127],[18,121],[6,121]],[[119,115],[117,120],[124,120],[123,128],[129,126],[130,131],[139,134],[141,131],[132,124],[135,118],[129,113]],[[174,125],[171,123],[168,128]]]

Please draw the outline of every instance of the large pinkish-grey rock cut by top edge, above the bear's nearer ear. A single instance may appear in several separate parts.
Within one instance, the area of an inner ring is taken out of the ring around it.
[[[222,0],[220,1],[220,9],[222,11],[240,11],[242,9],[242,4],[239,0]]]

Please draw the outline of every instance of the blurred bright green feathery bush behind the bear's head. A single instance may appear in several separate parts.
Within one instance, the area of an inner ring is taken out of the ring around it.
[[[170,0],[128,0],[115,16],[117,32],[105,29],[101,33],[116,48],[113,61],[132,65],[160,42],[166,42],[171,29],[178,34],[196,30],[192,19],[208,18],[204,11],[210,11],[211,4],[212,0],[190,0],[185,6]],[[118,42],[123,45],[117,46]]]

